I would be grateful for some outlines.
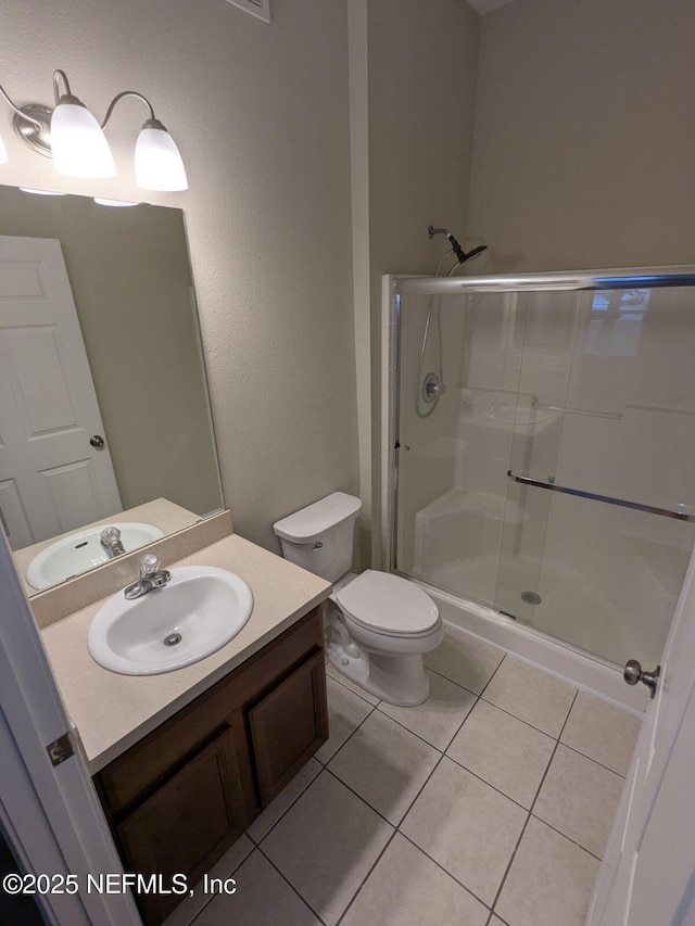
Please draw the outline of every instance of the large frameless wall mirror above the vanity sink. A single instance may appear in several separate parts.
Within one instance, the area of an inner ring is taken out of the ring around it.
[[[182,212],[0,187],[0,511],[27,594],[117,555],[104,527],[128,551],[223,506]]]

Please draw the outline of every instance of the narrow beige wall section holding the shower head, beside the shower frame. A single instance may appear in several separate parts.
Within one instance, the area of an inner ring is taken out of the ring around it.
[[[357,342],[362,382],[371,360],[371,392],[359,394],[359,452],[363,485],[369,468],[372,473],[374,527],[381,484],[381,275],[434,271],[446,242],[428,239],[430,224],[465,241],[479,17],[462,0],[364,2],[369,202],[364,227],[354,233],[356,253],[357,243],[368,240],[369,294],[355,313],[364,322]],[[378,561],[376,535],[372,554]]]

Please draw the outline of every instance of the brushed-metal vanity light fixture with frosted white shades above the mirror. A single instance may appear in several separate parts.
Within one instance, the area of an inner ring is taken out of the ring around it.
[[[61,92],[61,81],[63,92]],[[113,177],[116,167],[103,129],[114,106],[126,97],[140,100],[149,110],[135,147],[135,176],[144,190],[175,192],[188,189],[186,168],[176,142],[154,115],[152,104],[135,90],[117,93],[101,125],[85,104],[73,94],[64,71],[53,74],[55,105],[39,103],[17,106],[0,86],[0,96],[14,111],[15,131],[34,151],[53,158],[59,174],[67,177]],[[0,139],[0,163],[8,160]]]

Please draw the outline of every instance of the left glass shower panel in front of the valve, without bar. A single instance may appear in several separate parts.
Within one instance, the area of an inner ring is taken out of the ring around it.
[[[407,295],[401,313],[396,568],[491,607],[511,510],[526,301]],[[443,386],[434,398],[424,393],[432,373]]]

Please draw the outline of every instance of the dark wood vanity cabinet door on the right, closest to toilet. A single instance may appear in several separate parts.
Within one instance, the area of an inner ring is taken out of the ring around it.
[[[328,738],[324,651],[303,662],[248,716],[266,807]]]

